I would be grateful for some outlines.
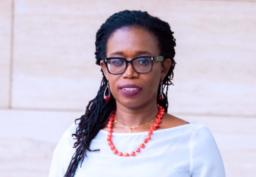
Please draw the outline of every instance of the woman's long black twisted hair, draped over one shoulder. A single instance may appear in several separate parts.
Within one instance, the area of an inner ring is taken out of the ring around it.
[[[107,21],[100,26],[100,29],[96,33],[96,64],[100,65],[100,61],[106,57],[107,40],[110,36],[120,28],[137,27],[148,30],[158,40],[160,55],[164,56],[164,59],[171,59],[171,67],[168,74],[163,80],[163,86],[166,88],[164,94],[164,100],[157,100],[157,103],[161,105],[167,112],[168,109],[168,87],[172,84],[171,79],[174,76],[174,61],[176,42],[171,31],[170,25],[159,18],[150,16],[149,13],[142,11],[120,11],[114,13],[114,15],[107,18]],[[101,70],[102,71],[102,70]],[[102,72],[103,74],[103,72]],[[77,141],[74,144],[76,148],[75,154],[70,161],[68,170],[65,173],[65,177],[73,177],[75,171],[78,168],[78,164],[84,161],[87,151],[95,152],[100,149],[90,149],[90,143],[97,133],[107,125],[110,114],[116,109],[116,101],[110,93],[110,100],[105,101],[103,98],[104,91],[107,87],[107,79],[103,74],[100,89],[97,92],[97,96],[89,101],[85,114],[75,120],[80,120],[78,127],[75,131]],[[160,85],[158,95],[160,93]],[[157,98],[156,98],[157,99]]]

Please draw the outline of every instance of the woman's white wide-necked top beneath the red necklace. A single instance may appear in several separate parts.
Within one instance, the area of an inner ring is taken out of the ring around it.
[[[78,125],[71,125],[53,153],[49,177],[63,177],[75,149],[71,135]],[[199,122],[156,130],[151,140],[136,156],[117,156],[107,144],[107,133],[100,130],[90,144],[87,158],[75,177],[85,176],[171,176],[224,177],[225,170],[217,144],[208,127]],[[113,133],[112,141],[119,152],[131,153],[145,139],[147,132]]]

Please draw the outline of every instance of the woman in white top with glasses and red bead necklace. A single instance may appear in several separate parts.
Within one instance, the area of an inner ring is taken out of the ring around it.
[[[208,128],[167,113],[176,64],[169,24],[121,11],[102,24],[95,45],[100,90],[60,139],[50,177],[225,176]]]

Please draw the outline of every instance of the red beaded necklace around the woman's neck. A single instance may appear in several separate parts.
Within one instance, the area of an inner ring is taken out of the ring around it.
[[[159,128],[159,124],[161,123],[161,118],[163,118],[164,108],[159,106],[159,104],[157,104],[157,108],[159,109],[159,113],[157,115],[156,122],[154,123],[154,126],[151,126],[150,128],[151,130],[149,130],[148,132],[149,134],[146,135],[146,138],[144,139],[144,143],[139,145],[139,147],[141,147],[142,149],[145,148],[145,144],[148,143],[149,140],[151,139],[151,135],[153,135],[153,131],[155,131],[156,128]],[[117,149],[115,149],[114,144],[112,142],[112,132],[113,132],[112,127],[114,122],[114,114],[115,114],[115,111],[110,116],[110,121],[107,124],[107,132],[109,132],[107,134],[107,142],[110,145],[110,149],[114,152],[114,154],[118,154],[119,156],[130,156],[130,154],[128,153],[122,154],[122,152],[118,152]],[[131,153],[131,156],[135,156],[136,152],[140,152],[141,149],[139,147],[135,150],[135,152]]]

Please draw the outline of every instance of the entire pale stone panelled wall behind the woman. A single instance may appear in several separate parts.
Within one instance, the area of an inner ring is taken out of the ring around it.
[[[0,1],[0,176],[48,176],[63,132],[97,93],[95,33],[148,11],[176,38],[169,113],[206,124],[227,176],[256,174],[256,1]]]

